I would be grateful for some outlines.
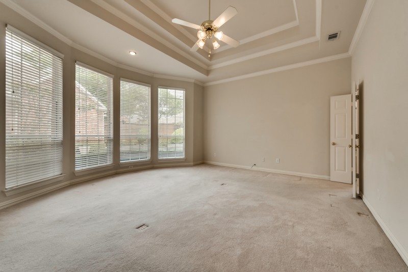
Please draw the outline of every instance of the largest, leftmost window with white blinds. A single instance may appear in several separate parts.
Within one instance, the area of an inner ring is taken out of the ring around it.
[[[62,58],[6,29],[6,189],[62,173]]]

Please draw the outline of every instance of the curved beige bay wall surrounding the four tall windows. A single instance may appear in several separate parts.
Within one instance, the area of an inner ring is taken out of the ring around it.
[[[63,174],[64,179],[59,182],[54,182],[42,187],[34,188],[23,193],[12,196],[6,196],[4,192],[0,192],[0,208],[11,205],[16,201],[22,201],[28,198],[35,197],[41,193],[49,191],[52,188],[66,186],[71,183],[83,181],[89,177],[110,175],[120,171],[136,170],[138,168],[174,166],[174,165],[193,165],[202,161],[202,138],[194,137],[194,134],[201,133],[202,130],[202,87],[192,82],[181,80],[163,79],[153,76],[148,76],[140,73],[118,68],[117,66],[107,63],[103,60],[88,55],[87,53],[70,47],[53,35],[39,28],[21,15],[0,3],[0,24],[11,24],[20,31],[32,36],[40,42],[60,51],[64,54],[63,60]],[[5,115],[5,28],[0,28],[0,113]],[[114,119],[114,154],[113,165],[100,170],[84,171],[79,175],[74,173],[74,130],[75,130],[75,61],[88,64],[99,70],[106,71],[114,75],[113,79],[113,119]],[[120,105],[120,78],[128,78],[135,81],[151,85],[151,118],[152,118],[152,138],[151,138],[151,161],[134,162],[119,164],[119,105]],[[158,160],[157,159],[157,110],[158,97],[157,87],[174,87],[183,88],[186,90],[186,107],[185,107],[185,122],[186,122],[186,158],[173,160]],[[201,127],[200,127],[201,126]],[[4,118],[0,118],[0,127],[5,127]],[[5,157],[5,133],[0,134],[0,157]],[[197,149],[197,152],[194,150]],[[133,166],[133,169],[129,169]],[[0,191],[5,187],[5,161],[0,160]]]

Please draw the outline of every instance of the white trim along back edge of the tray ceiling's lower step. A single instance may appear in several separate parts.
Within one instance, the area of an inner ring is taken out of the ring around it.
[[[219,64],[215,64],[215,65],[212,65],[212,66],[208,67],[208,69],[209,70],[217,69],[217,68],[224,67],[224,66],[227,66],[227,65],[236,64],[236,63],[243,62],[243,61],[248,61],[248,60],[251,60],[253,58],[262,57],[262,56],[265,56],[265,55],[269,55],[271,53],[276,53],[276,52],[279,52],[279,51],[287,50],[287,49],[290,49],[290,48],[298,47],[298,46],[301,46],[301,45],[305,45],[305,44],[312,43],[312,42],[317,42],[317,41],[319,41],[319,39],[316,36],[313,36],[313,37],[306,38],[306,39],[303,39],[303,40],[287,43],[287,44],[284,44],[284,45],[281,45],[281,46],[276,46],[276,47],[273,47],[273,48],[270,48],[270,49],[267,49],[267,50],[259,51],[259,52],[252,53],[252,54],[248,54],[248,55],[245,55],[243,57],[233,59],[231,61],[226,61],[226,62],[222,62],[222,63],[219,63]]]

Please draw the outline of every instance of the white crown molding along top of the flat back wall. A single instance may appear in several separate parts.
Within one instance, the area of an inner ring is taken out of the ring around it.
[[[221,80],[211,81],[209,83],[205,83],[204,86],[217,85],[217,84],[227,83],[227,82],[236,81],[236,80],[240,80],[240,79],[244,79],[244,78],[250,78],[250,77],[255,77],[255,76],[260,76],[260,75],[272,74],[272,73],[276,73],[276,72],[291,70],[291,69],[300,68],[300,67],[309,66],[309,65],[314,65],[314,64],[319,64],[319,63],[323,63],[323,62],[340,60],[340,59],[349,58],[349,57],[351,57],[349,55],[349,53],[342,53],[342,54],[339,54],[339,55],[333,55],[333,56],[324,57],[324,58],[321,58],[321,59],[315,59],[315,60],[311,60],[311,61],[299,62],[299,63],[286,65],[286,66],[281,66],[281,67],[277,67],[277,68],[272,68],[272,69],[268,69],[268,70],[264,70],[264,71],[255,72],[255,73],[244,74],[244,75],[234,76],[234,77],[225,78],[225,79],[221,79]]]

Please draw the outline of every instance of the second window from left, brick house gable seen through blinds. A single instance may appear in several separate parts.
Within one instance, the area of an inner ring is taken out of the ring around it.
[[[112,164],[113,76],[77,62],[75,170]]]

